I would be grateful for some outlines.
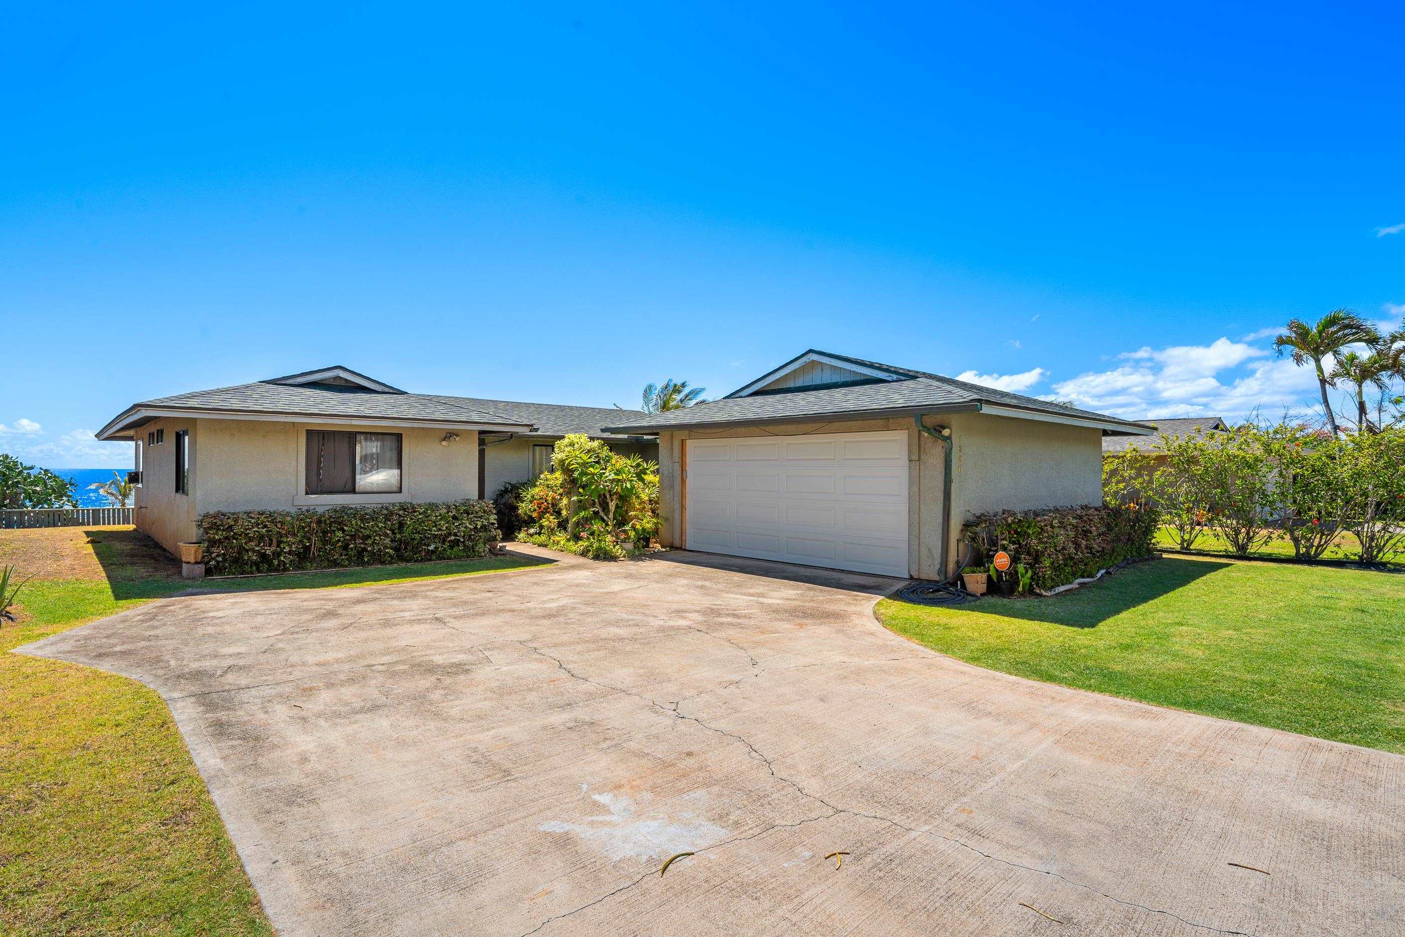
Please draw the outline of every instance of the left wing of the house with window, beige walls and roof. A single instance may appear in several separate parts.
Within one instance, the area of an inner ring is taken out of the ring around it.
[[[658,440],[611,433],[642,412],[407,393],[343,367],[133,403],[98,433],[132,440],[136,528],[200,539],[209,511],[492,497],[535,478],[568,433],[658,459]]]

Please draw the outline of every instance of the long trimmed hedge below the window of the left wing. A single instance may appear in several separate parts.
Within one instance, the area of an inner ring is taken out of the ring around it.
[[[211,575],[476,559],[499,539],[488,502],[202,514]]]

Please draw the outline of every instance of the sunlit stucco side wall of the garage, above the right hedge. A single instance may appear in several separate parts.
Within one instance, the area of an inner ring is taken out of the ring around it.
[[[953,548],[972,514],[1103,503],[1102,430],[954,413],[951,431]]]

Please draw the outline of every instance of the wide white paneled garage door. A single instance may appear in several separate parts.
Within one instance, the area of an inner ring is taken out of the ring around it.
[[[908,576],[908,434],[687,443],[687,546]]]

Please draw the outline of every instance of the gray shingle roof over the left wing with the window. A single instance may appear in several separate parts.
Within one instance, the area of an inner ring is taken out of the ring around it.
[[[296,376],[296,375],[294,375]],[[305,417],[341,417],[365,420],[403,420],[406,423],[486,424],[502,427],[504,433],[523,435],[589,435],[614,438],[601,431],[607,420],[620,421],[643,417],[638,410],[576,407],[552,403],[518,403],[455,398],[440,393],[385,393],[364,388],[330,384],[274,384],[256,381],[230,388],[192,391],[133,403],[98,433],[145,423],[128,419],[142,409],[155,410],[216,410]]]

